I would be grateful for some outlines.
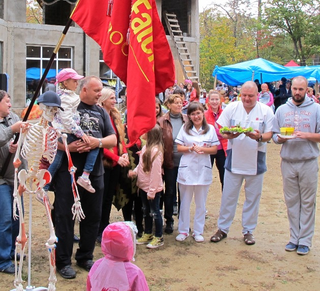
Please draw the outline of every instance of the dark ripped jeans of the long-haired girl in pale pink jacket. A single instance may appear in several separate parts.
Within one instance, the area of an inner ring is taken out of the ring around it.
[[[139,194],[141,195],[142,200],[144,233],[152,233],[153,220],[155,220],[156,237],[162,237],[162,215],[159,207],[160,193],[161,192],[157,192],[154,199],[148,200],[147,192],[139,189]]]

